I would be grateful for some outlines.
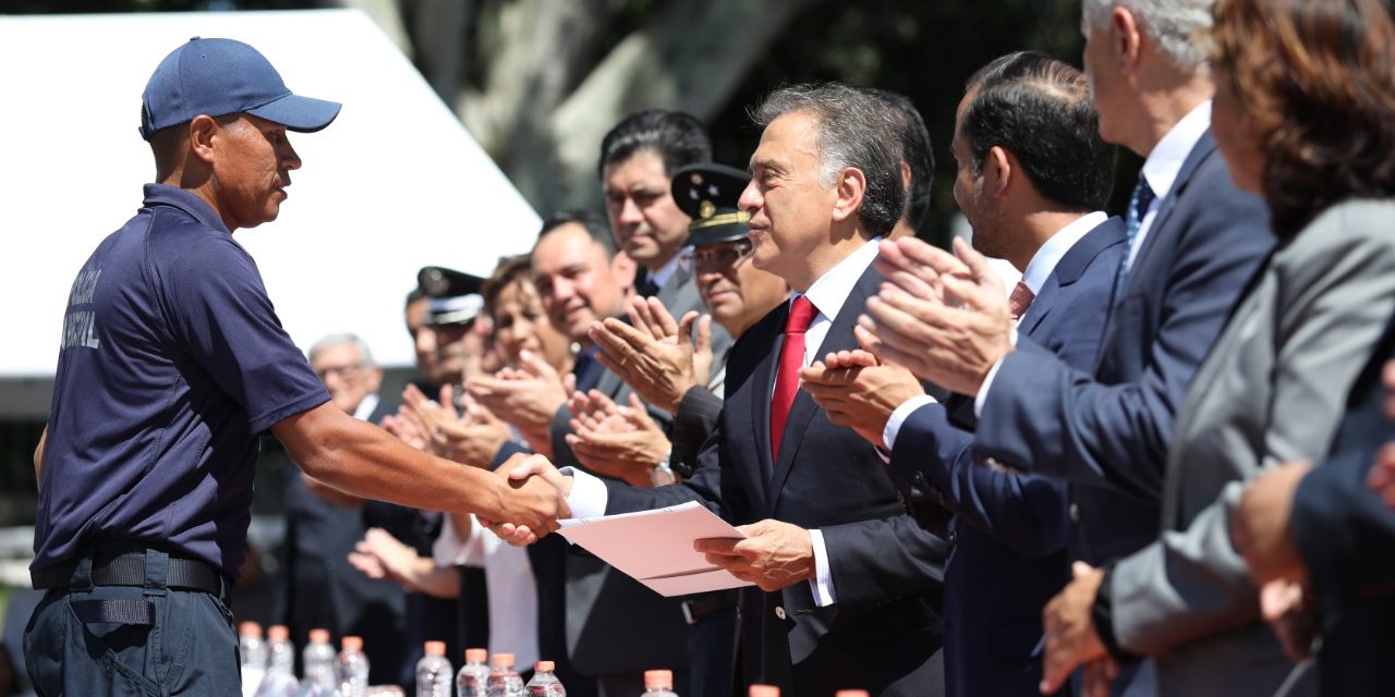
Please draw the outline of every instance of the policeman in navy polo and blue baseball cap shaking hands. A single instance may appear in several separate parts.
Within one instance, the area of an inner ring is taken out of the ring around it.
[[[36,691],[240,694],[226,599],[243,560],[258,434],[360,496],[554,530],[555,489],[413,450],[336,408],[232,233],[273,220],[339,105],[293,95],[255,49],[191,39],[145,88],[156,181],[68,297],[35,450],[25,630]],[[371,640],[371,638],[370,638]]]

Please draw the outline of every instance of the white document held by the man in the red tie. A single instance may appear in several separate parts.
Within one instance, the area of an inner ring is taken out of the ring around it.
[[[693,551],[695,539],[746,537],[698,502],[564,520],[558,534],[660,595],[752,585]]]

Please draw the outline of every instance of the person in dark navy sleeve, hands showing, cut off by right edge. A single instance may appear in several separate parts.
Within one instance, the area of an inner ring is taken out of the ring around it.
[[[1391,358],[1395,321],[1352,388],[1325,461],[1290,463],[1260,475],[1230,520],[1230,539],[1261,587],[1265,619],[1290,658],[1318,647],[1322,694],[1389,691],[1395,510],[1367,481],[1377,463],[1391,461],[1387,443],[1395,441],[1395,414],[1382,408],[1395,389]],[[1313,631],[1321,644],[1313,643]]]

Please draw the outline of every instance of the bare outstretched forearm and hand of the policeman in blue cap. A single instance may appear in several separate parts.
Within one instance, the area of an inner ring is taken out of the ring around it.
[[[307,474],[354,496],[474,513],[538,535],[557,530],[557,519],[566,516],[561,495],[543,478],[511,484],[506,473],[423,453],[328,401],[278,422],[272,432]]]

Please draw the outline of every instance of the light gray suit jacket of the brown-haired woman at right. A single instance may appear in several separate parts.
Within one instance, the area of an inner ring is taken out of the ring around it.
[[[1243,481],[1328,450],[1395,312],[1395,202],[1348,201],[1281,244],[1177,413],[1162,537],[1109,577],[1115,636],[1158,657],[1159,694],[1272,694],[1293,669],[1230,545]]]

